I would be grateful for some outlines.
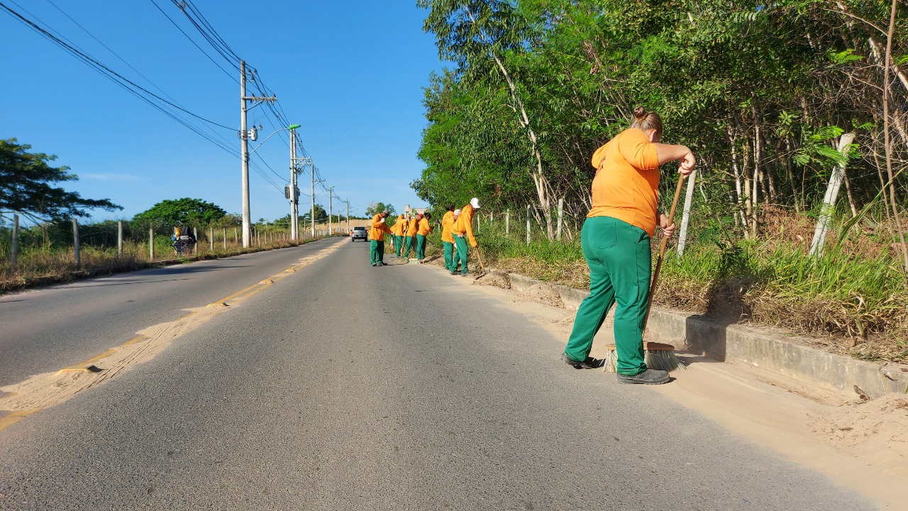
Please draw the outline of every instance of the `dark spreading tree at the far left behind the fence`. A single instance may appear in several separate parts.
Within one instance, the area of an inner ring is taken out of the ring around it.
[[[29,153],[31,145],[15,138],[0,140],[0,212],[10,211],[35,221],[60,220],[67,216],[91,216],[85,210],[123,209],[108,199],[86,199],[52,184],[78,181],[68,166],[47,165],[56,155]]]

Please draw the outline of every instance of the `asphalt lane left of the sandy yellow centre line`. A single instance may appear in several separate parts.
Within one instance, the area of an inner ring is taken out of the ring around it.
[[[338,240],[342,242],[342,240]],[[0,386],[82,362],[135,332],[207,306],[332,240],[0,296]]]

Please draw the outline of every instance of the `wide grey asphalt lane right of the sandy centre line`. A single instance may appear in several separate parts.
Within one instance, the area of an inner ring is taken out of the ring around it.
[[[0,431],[0,509],[873,508],[650,387],[564,365],[561,341],[468,279],[340,243]],[[183,276],[221,272],[239,273]],[[154,314],[168,306],[190,305]]]

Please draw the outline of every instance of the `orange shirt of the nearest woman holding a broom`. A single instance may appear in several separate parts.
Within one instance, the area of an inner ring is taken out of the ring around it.
[[[659,156],[637,128],[627,129],[593,154],[593,207],[587,218],[611,216],[656,234]]]

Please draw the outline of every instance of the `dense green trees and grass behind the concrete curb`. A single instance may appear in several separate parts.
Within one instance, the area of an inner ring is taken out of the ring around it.
[[[426,169],[411,185],[433,213],[479,196],[487,264],[588,286],[579,234],[596,172],[590,156],[643,105],[662,115],[663,140],[698,160],[658,305],[908,362],[903,3],[419,5],[452,64],[425,88]],[[676,167],[662,175],[667,211]],[[828,233],[812,252],[826,216]]]

